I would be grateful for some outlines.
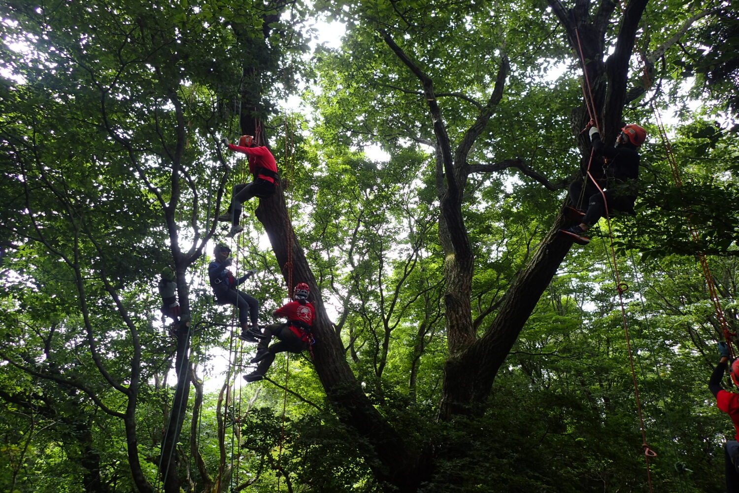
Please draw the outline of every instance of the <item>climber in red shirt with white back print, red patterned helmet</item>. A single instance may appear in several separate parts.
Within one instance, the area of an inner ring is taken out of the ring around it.
[[[308,300],[310,288],[304,282],[295,287],[295,301],[287,303],[283,307],[272,312],[273,316],[284,316],[287,322],[283,324],[271,324],[265,327],[265,339],[259,341],[256,346],[256,356],[251,359],[252,363],[259,363],[252,373],[244,375],[246,381],[258,381],[265,378],[265,373],[275,359],[277,353],[302,353],[313,344],[313,320],[316,319],[316,310]],[[279,342],[270,344],[272,336],[276,336]]]

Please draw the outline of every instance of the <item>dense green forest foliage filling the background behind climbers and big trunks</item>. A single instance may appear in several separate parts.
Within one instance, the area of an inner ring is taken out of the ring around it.
[[[171,469],[184,491],[397,491],[378,482],[375,444],[347,424],[307,353],[279,355],[261,383],[241,379],[253,347],[231,336],[234,313],[213,304],[205,266],[211,240],[223,239],[214,217],[245,180],[217,138],[253,118],[288,181],[296,240],[320,288],[312,296],[330,306],[372,406],[430,458],[418,492],[646,491],[624,324],[658,452],[655,491],[722,491],[721,443],[734,430],[706,387],[723,336],[695,256],[709,255],[738,329],[739,143],[721,113],[727,101],[736,109],[728,5],[647,5],[636,44],[656,57],[656,89],[643,93],[634,55],[624,108],[650,132],[638,215],[611,222],[614,254],[602,220],[559,266],[484,412],[440,419],[449,264],[436,122],[384,36],[433,79],[452,149],[491,108],[463,156],[472,171],[461,200],[474,257],[469,315],[482,337],[579,162],[579,64],[551,9],[525,0],[118,3],[0,6],[2,491],[164,488],[177,380],[156,290],[164,265],[185,274],[178,296],[192,316],[191,365],[180,373],[191,371],[192,384]],[[341,48],[304,56],[308,20],[324,16],[344,22]],[[695,26],[681,30],[692,16]],[[605,33],[607,47],[617,33]],[[697,64],[715,33],[726,44],[708,51],[710,66]],[[695,72],[704,78],[686,81]],[[279,114],[299,88],[310,112]],[[681,186],[653,107],[674,113]],[[373,157],[378,149],[384,157]],[[494,166],[511,160],[519,165]],[[254,208],[256,199],[245,204],[247,230],[231,245],[239,271],[260,271],[245,289],[270,323],[287,294],[284,266]],[[629,286],[623,305],[613,259]]]

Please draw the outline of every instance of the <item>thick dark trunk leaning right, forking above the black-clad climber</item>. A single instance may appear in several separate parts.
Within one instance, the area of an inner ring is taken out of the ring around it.
[[[590,106],[590,110],[579,110],[579,115],[588,116],[574,122],[576,133],[577,129],[585,126],[589,114],[594,112],[593,116],[605,129],[605,138],[616,137],[626,95],[628,62],[638,20],[647,1],[633,0],[629,3],[621,22],[616,50],[605,64],[602,61],[605,33],[614,5],[603,2],[590,21],[589,1],[578,1],[573,9],[565,9],[559,0],[549,1],[568,33],[573,52],[576,56],[582,53],[588,74],[585,106]],[[585,151],[589,144],[582,140],[584,138],[581,135],[580,143]],[[497,371],[572,245],[557,233],[564,225],[560,215],[539,244],[531,262],[505,293],[500,310],[485,335],[456,352],[450,343],[450,358],[446,362],[440,405],[441,418],[451,419],[456,415],[479,415],[484,412]],[[454,327],[448,328],[451,331]]]

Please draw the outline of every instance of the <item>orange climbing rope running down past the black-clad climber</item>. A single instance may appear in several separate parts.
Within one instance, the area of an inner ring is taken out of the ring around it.
[[[590,81],[588,80],[588,71],[585,69],[585,58],[582,55],[582,44],[580,44],[580,35],[578,33],[577,28],[575,28],[575,35],[577,39],[577,49],[579,51],[579,57],[580,57],[580,63],[582,64],[583,73],[585,75],[585,84],[588,86],[588,92],[587,97],[585,98],[585,106],[588,107],[588,113],[590,115],[590,120],[593,120],[596,123],[596,128],[599,128],[597,120],[596,120],[596,111],[595,111],[595,101],[593,101],[593,94],[590,90]],[[583,89],[583,93],[585,94],[585,89]],[[588,101],[589,100],[589,101]],[[631,380],[634,385],[634,398],[636,401],[636,410],[638,412],[639,416],[639,424],[641,427],[641,448],[644,449],[644,462],[647,464],[647,483],[649,484],[649,491],[653,492],[652,487],[652,472],[650,469],[650,458],[654,458],[657,456],[657,453],[654,452],[649,444],[647,443],[647,431],[644,427],[644,415],[641,412],[641,401],[639,400],[639,390],[638,390],[638,384],[636,381],[636,370],[634,370],[634,358],[633,358],[633,352],[631,350],[631,338],[629,336],[629,327],[628,322],[626,319],[626,308],[624,307],[624,292],[628,290],[628,285],[625,282],[621,282],[621,278],[619,275],[619,267],[618,262],[616,261],[616,249],[613,248],[613,230],[610,226],[610,214],[608,214],[608,202],[605,197],[605,193],[603,189],[598,185],[596,180],[593,178],[593,175],[590,174],[590,163],[593,161],[593,151],[591,149],[590,151],[590,162],[588,162],[588,177],[590,177],[590,180],[593,180],[593,183],[596,187],[598,187],[598,190],[600,194],[603,197],[603,204],[605,206],[605,218],[608,225],[608,236],[610,239],[610,253],[611,257],[613,259],[613,274],[616,278],[616,292],[619,293],[619,302],[621,304],[621,320],[624,325],[624,334],[626,336],[626,347],[627,347],[627,353],[629,355],[629,366],[631,370]],[[584,187],[583,187],[584,188]]]

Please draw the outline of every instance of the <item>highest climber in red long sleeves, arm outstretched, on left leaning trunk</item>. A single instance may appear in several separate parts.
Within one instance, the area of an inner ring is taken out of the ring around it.
[[[228,143],[226,139],[223,139],[222,142],[231,151],[242,152],[248,156],[249,172],[254,177],[251,183],[239,183],[234,186],[228,212],[218,217],[219,221],[231,221],[231,231],[226,236],[233,238],[244,229],[243,226],[239,225],[242,204],[251,197],[264,198],[274,193],[278,180],[277,163],[267,147],[255,145],[254,137],[251,135],[242,135],[239,138],[238,146]]]

